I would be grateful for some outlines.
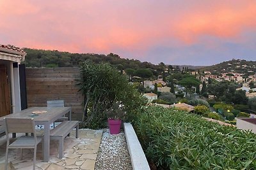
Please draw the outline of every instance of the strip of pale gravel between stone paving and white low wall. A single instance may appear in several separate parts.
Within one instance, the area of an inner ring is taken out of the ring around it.
[[[97,156],[95,170],[125,169],[132,170],[131,158],[127,148],[125,134],[109,134],[109,129],[104,129]]]

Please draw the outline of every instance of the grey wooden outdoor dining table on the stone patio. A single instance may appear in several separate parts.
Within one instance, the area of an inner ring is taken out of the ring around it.
[[[33,111],[47,111],[47,113],[42,113],[38,115],[33,115]],[[33,107],[26,110],[22,110],[17,113],[6,115],[0,117],[0,125],[3,125],[3,118],[34,118],[36,125],[44,125],[44,143],[43,143],[43,155],[44,162],[49,161],[50,157],[50,125],[52,122],[61,118],[63,115],[69,113],[68,119],[71,120],[71,107]]]

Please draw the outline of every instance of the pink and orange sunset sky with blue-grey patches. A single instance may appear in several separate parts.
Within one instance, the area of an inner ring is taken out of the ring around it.
[[[256,59],[253,0],[0,0],[0,44],[154,64]]]

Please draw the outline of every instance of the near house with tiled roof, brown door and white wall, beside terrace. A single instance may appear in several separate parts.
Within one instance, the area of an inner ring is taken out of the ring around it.
[[[20,75],[25,74],[24,65],[22,69],[20,62],[25,56],[26,52],[19,47],[0,45],[0,117],[20,111],[22,102],[26,101],[20,95],[20,84],[23,86],[22,82],[25,81],[24,76],[20,79]]]

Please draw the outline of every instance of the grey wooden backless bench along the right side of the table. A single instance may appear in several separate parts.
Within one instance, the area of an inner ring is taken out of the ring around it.
[[[76,127],[76,138],[78,138],[78,121],[65,120],[51,130],[50,138],[59,140],[59,158],[63,157],[63,140]]]

